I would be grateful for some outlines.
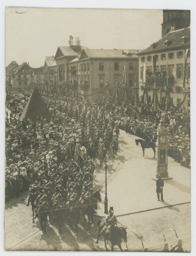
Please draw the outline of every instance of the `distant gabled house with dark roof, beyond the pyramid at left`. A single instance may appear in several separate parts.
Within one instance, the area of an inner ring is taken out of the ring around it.
[[[44,68],[32,68],[24,62],[11,72],[11,85],[19,92],[27,90],[31,84],[44,83]]]

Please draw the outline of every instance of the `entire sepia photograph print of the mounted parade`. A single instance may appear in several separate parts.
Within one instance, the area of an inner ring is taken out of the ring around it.
[[[191,13],[6,7],[5,251],[191,252]]]

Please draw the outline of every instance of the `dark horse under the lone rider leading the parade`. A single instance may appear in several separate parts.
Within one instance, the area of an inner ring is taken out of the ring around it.
[[[101,235],[104,235],[105,248],[106,248],[106,251],[108,251],[108,248],[106,246],[106,222],[103,220],[99,220],[97,222],[97,225],[99,226],[99,231],[98,231],[98,235],[97,235],[97,241],[95,243],[98,244],[99,237]],[[118,245],[120,250],[123,251],[123,249],[121,247],[121,239],[123,239],[124,242],[126,243],[126,248],[128,250],[126,229],[127,229],[127,227],[126,228],[114,227],[114,230],[113,230],[113,232],[111,232],[111,236],[109,238],[109,240],[111,242],[111,251],[113,251],[113,248],[115,245]]]

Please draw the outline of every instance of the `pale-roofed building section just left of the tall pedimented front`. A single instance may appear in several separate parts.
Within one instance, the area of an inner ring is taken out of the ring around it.
[[[46,56],[45,58],[44,79],[48,84],[57,81],[57,63],[54,56]]]

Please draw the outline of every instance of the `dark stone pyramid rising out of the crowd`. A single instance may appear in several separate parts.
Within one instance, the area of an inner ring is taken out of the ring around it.
[[[41,98],[40,93],[34,87],[33,92],[31,93],[23,110],[23,113],[20,116],[20,121],[23,121],[23,119],[27,118],[36,119],[37,116],[42,116],[50,120],[52,114],[48,110],[46,103]]]

